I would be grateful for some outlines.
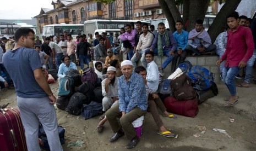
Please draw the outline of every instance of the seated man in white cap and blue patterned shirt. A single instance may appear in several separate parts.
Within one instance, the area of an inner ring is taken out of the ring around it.
[[[125,134],[130,140],[126,148],[132,149],[139,142],[132,122],[146,114],[148,101],[144,80],[138,73],[133,72],[133,63],[129,60],[123,61],[121,70],[123,75],[118,80],[119,104],[108,109],[106,117],[115,133],[110,142]]]

